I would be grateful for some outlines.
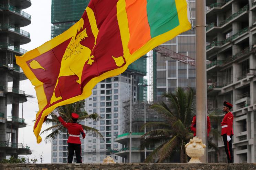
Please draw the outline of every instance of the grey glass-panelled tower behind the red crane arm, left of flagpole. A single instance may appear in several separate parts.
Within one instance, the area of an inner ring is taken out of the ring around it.
[[[190,1],[191,21],[195,23],[195,1]],[[161,46],[195,59],[195,30],[186,31]],[[162,94],[177,87],[195,87],[195,66],[153,52],[153,100],[163,100]],[[155,64],[156,63],[156,64]]]

